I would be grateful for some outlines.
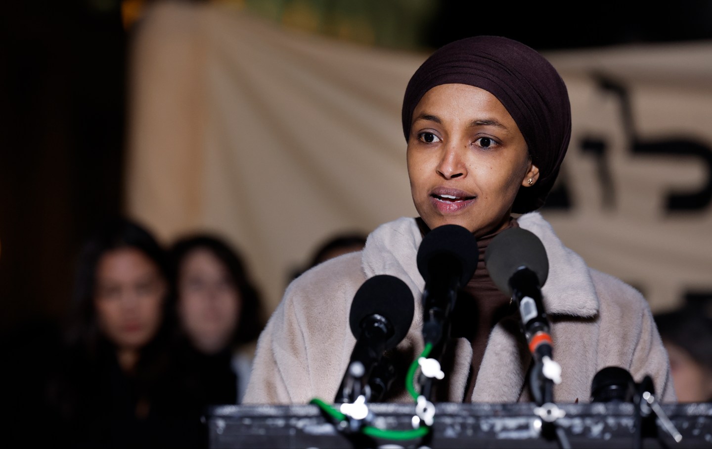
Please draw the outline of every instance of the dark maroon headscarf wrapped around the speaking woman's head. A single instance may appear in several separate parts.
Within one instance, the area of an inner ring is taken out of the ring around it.
[[[564,81],[537,51],[500,36],[475,36],[436,50],[414,73],[403,98],[403,133],[408,140],[413,111],[427,91],[459,83],[495,96],[524,135],[539,179],[520,187],[512,212],[544,205],[571,138],[571,105]]]

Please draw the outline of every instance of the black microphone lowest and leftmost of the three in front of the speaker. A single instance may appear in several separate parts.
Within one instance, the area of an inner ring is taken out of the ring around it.
[[[382,373],[384,368],[379,362],[384,351],[397,346],[408,333],[414,309],[412,292],[397,277],[377,274],[361,285],[351,303],[349,315],[356,344],[335,403],[353,403],[360,396],[370,400],[369,381],[375,368],[378,378],[374,379],[374,384],[381,388],[389,385],[389,376]],[[387,365],[385,369],[387,373]],[[383,393],[378,391],[378,396]]]

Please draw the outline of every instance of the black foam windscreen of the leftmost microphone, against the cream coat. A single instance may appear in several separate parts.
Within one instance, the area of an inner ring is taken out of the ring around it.
[[[390,274],[377,274],[366,279],[354,295],[349,324],[356,339],[362,331],[362,321],[373,314],[383,316],[392,326],[386,349],[394,348],[405,338],[413,322],[413,293],[405,282]]]

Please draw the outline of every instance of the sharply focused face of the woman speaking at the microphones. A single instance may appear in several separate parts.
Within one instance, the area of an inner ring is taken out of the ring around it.
[[[459,224],[481,237],[508,222],[519,187],[538,179],[518,126],[488,91],[442,84],[413,112],[408,175],[431,228]]]

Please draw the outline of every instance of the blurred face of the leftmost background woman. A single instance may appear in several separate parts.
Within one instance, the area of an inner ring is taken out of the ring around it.
[[[166,289],[159,268],[143,252],[134,248],[106,252],[96,269],[99,329],[119,349],[142,348],[161,325]]]

